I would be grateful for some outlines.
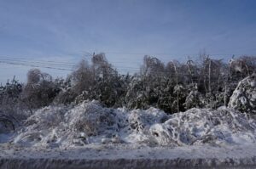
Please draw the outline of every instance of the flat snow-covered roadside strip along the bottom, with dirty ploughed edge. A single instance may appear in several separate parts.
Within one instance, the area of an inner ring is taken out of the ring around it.
[[[88,144],[69,149],[0,145],[0,168],[255,168],[255,144],[148,147]]]

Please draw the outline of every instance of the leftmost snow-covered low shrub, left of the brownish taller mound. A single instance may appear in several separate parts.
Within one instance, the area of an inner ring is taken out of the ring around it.
[[[67,106],[48,106],[37,110],[24,122],[25,127],[18,131],[14,143],[53,145],[61,142],[61,137],[67,137],[63,134],[68,129],[64,115],[70,109]]]

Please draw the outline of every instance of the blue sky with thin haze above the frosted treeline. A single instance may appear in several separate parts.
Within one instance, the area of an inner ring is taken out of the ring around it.
[[[63,67],[105,52],[125,71],[137,70],[145,54],[163,61],[204,50],[222,59],[256,55],[255,8],[254,0],[0,0],[0,60]],[[14,75],[25,82],[31,68],[0,63],[0,82]]]

